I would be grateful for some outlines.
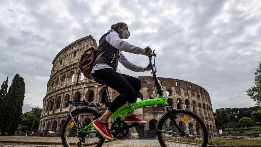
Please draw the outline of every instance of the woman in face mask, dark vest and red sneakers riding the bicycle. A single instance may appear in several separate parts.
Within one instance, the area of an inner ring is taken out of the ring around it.
[[[138,78],[120,74],[117,72],[118,62],[127,69],[135,72],[149,71],[148,67],[137,66],[126,59],[122,51],[150,56],[152,50],[149,47],[136,47],[122,39],[127,39],[130,36],[128,26],[125,23],[117,23],[112,25],[111,29],[102,35],[99,40],[99,47],[96,54],[91,76],[98,83],[106,83],[112,89],[118,91],[118,95],[111,103],[105,113],[93,123],[93,127],[107,140],[113,140],[109,132],[107,121],[112,113],[118,110],[126,102],[129,104],[137,101],[138,94],[141,88],[141,81]],[[129,113],[124,120],[127,124],[138,123],[146,124],[146,121],[141,120],[133,112]]]

